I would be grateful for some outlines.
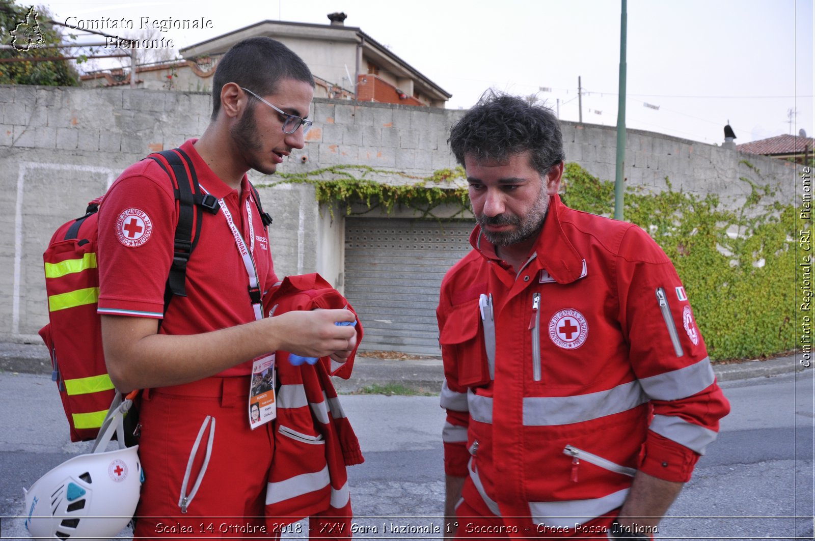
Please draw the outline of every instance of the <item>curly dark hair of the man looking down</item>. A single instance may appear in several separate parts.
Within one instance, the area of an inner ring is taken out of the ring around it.
[[[566,157],[552,109],[495,90],[487,90],[452,126],[447,143],[462,166],[466,155],[504,161],[529,151],[531,166],[544,175]]]

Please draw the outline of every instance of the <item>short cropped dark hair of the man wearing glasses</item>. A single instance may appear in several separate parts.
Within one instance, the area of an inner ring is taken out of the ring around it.
[[[212,119],[221,109],[221,90],[234,82],[265,96],[274,94],[284,79],[303,81],[314,86],[314,77],[306,63],[289,47],[271,37],[249,37],[237,42],[218,61],[212,84]]]

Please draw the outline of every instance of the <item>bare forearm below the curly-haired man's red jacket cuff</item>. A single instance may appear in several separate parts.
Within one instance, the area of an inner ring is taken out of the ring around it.
[[[671,507],[685,483],[672,482],[637,472],[628,498],[620,509],[617,521],[635,533],[649,534]]]

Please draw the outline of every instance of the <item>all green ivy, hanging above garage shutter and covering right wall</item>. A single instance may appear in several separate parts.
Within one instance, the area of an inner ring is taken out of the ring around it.
[[[754,173],[760,171],[747,164]],[[377,174],[406,179],[404,185],[377,182]],[[368,209],[417,209],[436,218],[439,205],[454,205],[455,216],[469,210],[461,168],[416,178],[362,165],[336,165],[306,174],[282,174],[282,183],[315,187],[319,203]],[[456,183],[455,181],[459,181]],[[741,209],[725,209],[715,194],[698,196],[673,189],[650,193],[628,187],[624,216],[648,231],[676,266],[694,306],[698,326],[714,359],[760,358],[795,348],[795,263],[798,231],[809,227],[793,205],[765,203],[773,196],[750,178],[751,193]],[[561,196],[572,209],[611,216],[614,183],[600,181],[575,163],[566,164]],[[796,272],[799,280],[796,281]]]

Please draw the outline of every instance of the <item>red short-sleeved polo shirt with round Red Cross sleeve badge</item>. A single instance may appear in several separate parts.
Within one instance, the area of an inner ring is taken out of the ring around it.
[[[200,187],[226,203],[246,247],[251,249],[261,291],[267,292],[277,277],[249,180],[244,176],[239,196],[209,169],[193,147],[195,142],[190,139],[181,148],[192,159]],[[187,297],[174,296],[163,314],[177,222],[173,183],[155,161],[139,161],[117,178],[99,209],[99,314],[163,317],[160,332],[174,335],[253,321],[249,277],[221,210],[204,213],[200,239],[187,263]],[[251,362],[219,375],[249,373]]]

